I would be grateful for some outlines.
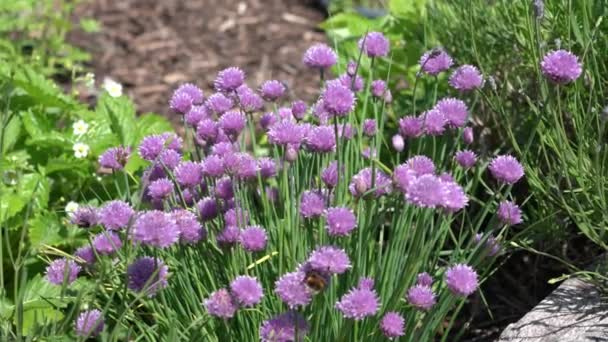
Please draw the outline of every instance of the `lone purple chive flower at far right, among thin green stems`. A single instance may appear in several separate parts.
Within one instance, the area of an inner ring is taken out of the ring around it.
[[[570,51],[550,51],[543,57],[540,67],[545,77],[557,84],[576,81],[583,72],[578,57]]]

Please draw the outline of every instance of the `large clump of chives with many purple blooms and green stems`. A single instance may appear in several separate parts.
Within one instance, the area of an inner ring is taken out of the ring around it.
[[[370,32],[359,47],[373,75],[390,42]],[[75,335],[430,340],[455,316],[523,220],[508,191],[524,176],[519,162],[474,151],[465,96],[483,76],[458,67],[449,83],[462,98],[385,132],[387,83],[364,79],[356,63],[332,79],[336,61],[326,45],[304,54],[322,84],[311,105],[291,101],[279,80],[247,84],[237,67],[220,71],[207,96],[182,85],[169,106],[183,136],[100,157],[120,196],[71,214],[89,243],[47,270],[56,286],[97,281],[78,304],[103,311],[83,311]],[[420,59],[433,77],[452,65],[442,49]],[[141,175],[125,167],[135,153],[148,163]]]

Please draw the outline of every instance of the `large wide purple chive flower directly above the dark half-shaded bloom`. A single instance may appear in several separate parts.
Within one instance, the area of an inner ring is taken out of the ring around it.
[[[173,217],[158,210],[147,211],[139,215],[133,227],[134,241],[160,248],[174,244],[180,233]]]

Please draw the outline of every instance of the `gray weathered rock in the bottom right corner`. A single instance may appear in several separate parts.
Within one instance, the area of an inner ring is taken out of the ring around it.
[[[608,341],[608,302],[595,286],[568,279],[498,339],[524,341]]]

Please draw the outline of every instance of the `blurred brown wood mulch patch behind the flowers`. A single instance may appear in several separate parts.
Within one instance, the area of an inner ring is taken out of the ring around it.
[[[217,72],[239,66],[248,84],[285,82],[293,98],[313,99],[318,76],[302,65],[308,46],[325,40],[324,14],[307,0],[90,0],[76,18],[92,17],[100,33],[70,42],[93,56],[98,80],[122,83],[139,112],[169,115],[173,89],[192,82],[212,91]]]

